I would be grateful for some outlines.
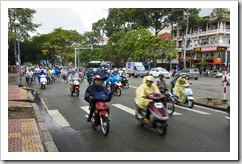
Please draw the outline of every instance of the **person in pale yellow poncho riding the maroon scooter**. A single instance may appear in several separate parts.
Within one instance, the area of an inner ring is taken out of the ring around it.
[[[150,111],[147,109],[148,104],[153,100],[148,99],[148,95],[151,93],[160,93],[159,88],[153,84],[154,82],[153,76],[146,76],[143,80],[143,83],[136,89],[136,99],[138,102],[138,106],[144,110],[146,110],[146,117],[144,121],[146,123],[149,122]]]

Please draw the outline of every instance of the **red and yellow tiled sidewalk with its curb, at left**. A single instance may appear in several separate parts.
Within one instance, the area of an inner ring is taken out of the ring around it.
[[[57,152],[28,88],[8,86],[8,151]]]

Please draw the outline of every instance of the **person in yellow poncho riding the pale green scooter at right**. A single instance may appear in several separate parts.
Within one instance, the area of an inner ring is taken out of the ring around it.
[[[177,79],[176,85],[174,88],[174,93],[179,96],[180,102],[183,102],[185,99],[184,90],[181,88],[181,86],[188,84],[185,78],[186,78],[186,74],[182,73],[181,76]]]

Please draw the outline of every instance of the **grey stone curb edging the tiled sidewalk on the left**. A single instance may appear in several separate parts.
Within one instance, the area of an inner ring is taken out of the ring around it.
[[[28,95],[29,95],[30,100],[33,102],[34,98],[33,98],[32,94],[30,92],[28,92]],[[45,125],[45,120],[41,116],[39,107],[37,106],[36,103],[31,103],[31,105],[32,105],[35,115],[36,115],[35,120],[36,120],[38,129],[39,129],[40,138],[43,142],[44,149],[47,152],[58,152],[58,149],[53,141],[53,138],[52,138],[48,128]]]

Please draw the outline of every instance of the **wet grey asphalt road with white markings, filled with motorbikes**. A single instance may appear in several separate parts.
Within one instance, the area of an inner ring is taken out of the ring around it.
[[[171,79],[167,79],[170,82]],[[176,106],[164,137],[148,127],[140,127],[133,115],[135,89],[141,78],[130,78],[131,87],[110,102],[110,132],[86,122],[88,103],[83,99],[87,82],[81,83],[79,97],[71,96],[68,84],[59,79],[46,89],[35,88],[44,103],[39,103],[47,127],[60,152],[229,152],[230,126],[226,113],[195,105],[193,109]],[[195,97],[223,97],[220,79],[189,80]],[[227,87],[229,98],[229,86]],[[47,111],[45,110],[47,108]],[[124,109],[126,109],[124,111]],[[56,116],[56,113],[58,116]],[[55,117],[58,117],[55,121]],[[61,121],[58,121],[61,120]]]

